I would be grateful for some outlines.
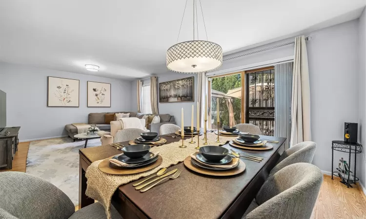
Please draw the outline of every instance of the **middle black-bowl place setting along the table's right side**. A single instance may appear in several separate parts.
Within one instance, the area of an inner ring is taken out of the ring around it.
[[[259,135],[241,133],[239,138],[230,141],[229,145],[248,150],[269,150],[273,148],[267,141],[262,141],[259,138]]]

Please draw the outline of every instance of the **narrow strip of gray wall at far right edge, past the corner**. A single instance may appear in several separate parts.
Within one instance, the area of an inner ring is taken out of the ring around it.
[[[362,13],[359,19],[359,78],[358,78],[358,128],[359,128],[359,142],[366,146],[366,12]],[[361,183],[366,185],[366,164],[365,152],[359,154],[357,157],[357,174]]]

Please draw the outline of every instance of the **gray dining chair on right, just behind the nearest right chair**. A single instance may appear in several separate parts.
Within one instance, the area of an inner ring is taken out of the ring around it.
[[[282,153],[276,166],[273,167],[269,175],[275,174],[280,169],[290,164],[296,163],[309,163],[313,161],[316,149],[315,142],[300,142],[294,146],[291,146],[284,153]]]

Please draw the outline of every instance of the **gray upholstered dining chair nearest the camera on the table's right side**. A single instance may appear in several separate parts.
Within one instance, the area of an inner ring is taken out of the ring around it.
[[[268,177],[244,219],[309,219],[323,182],[313,164],[291,164]]]

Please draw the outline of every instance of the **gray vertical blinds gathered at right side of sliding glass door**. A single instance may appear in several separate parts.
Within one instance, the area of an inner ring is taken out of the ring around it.
[[[291,137],[291,92],[293,63],[275,65],[275,133],[284,137],[285,149],[289,147]]]

